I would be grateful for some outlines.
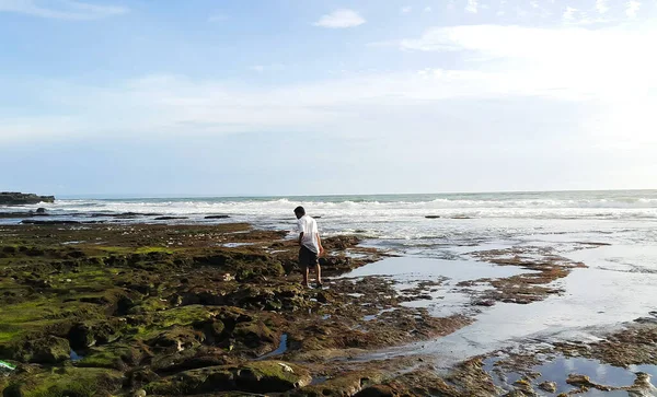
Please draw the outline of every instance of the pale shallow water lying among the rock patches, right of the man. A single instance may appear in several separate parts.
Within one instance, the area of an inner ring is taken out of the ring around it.
[[[593,246],[583,249],[572,236],[555,238],[554,247],[574,261],[589,266],[574,269],[569,276],[554,284],[564,293],[527,305],[496,303],[493,307],[477,307],[475,323],[446,337],[412,343],[374,353],[371,358],[405,354],[430,354],[438,366],[449,367],[469,357],[485,354],[504,348],[527,348],[558,340],[598,340],[597,335],[618,327],[621,323],[649,316],[657,308],[657,247]],[[523,243],[535,246],[532,242]],[[485,249],[503,246],[502,242],[487,244]],[[466,253],[484,250],[481,247],[454,247],[463,257]],[[616,260],[623,257],[624,261]],[[486,277],[509,277],[528,270],[512,266],[495,266],[475,260],[438,260],[419,257],[384,259],[349,273],[350,277],[382,275],[399,282],[417,282],[426,279],[449,278],[431,293],[433,300],[418,301],[431,314],[445,316],[453,313],[472,314],[469,299],[454,283]],[[413,303],[412,303],[413,304]],[[470,310],[470,311],[469,311]]]

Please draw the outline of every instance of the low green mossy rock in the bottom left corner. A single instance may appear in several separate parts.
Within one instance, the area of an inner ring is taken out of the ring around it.
[[[101,369],[65,367],[10,381],[3,397],[100,397],[120,387],[118,372]]]

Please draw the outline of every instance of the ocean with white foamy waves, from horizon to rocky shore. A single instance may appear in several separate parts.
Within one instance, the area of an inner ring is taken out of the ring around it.
[[[366,244],[408,254],[496,241],[595,238],[602,243],[655,243],[657,190],[550,191],[440,195],[61,199],[44,219],[107,222],[249,222],[292,231],[292,210],[303,206],[324,235],[356,234]],[[7,210],[7,209],[4,209]],[[145,217],[116,219],[120,213]],[[103,217],[106,214],[107,217]],[[184,217],[157,221],[154,214]],[[229,219],[207,220],[211,214]],[[428,219],[427,217],[431,217]],[[439,217],[439,218],[438,218]],[[20,219],[0,220],[4,224]]]

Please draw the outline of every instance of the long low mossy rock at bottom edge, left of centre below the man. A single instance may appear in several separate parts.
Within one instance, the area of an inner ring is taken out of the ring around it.
[[[187,395],[241,390],[283,393],[311,383],[303,367],[280,361],[257,361],[241,366],[222,365],[185,371],[146,386],[148,394]]]

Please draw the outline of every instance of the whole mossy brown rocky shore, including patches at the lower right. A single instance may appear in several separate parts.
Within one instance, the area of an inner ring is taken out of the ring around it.
[[[325,285],[308,289],[297,245],[283,231],[244,223],[0,226],[2,396],[541,396],[647,387],[647,374],[631,388],[544,365],[572,358],[653,364],[649,318],[604,340],[463,357],[447,370],[413,348],[376,358],[439,341],[473,324],[482,307],[561,294],[555,280],[586,266],[540,246],[476,252],[482,262],[518,271],[456,284],[471,310],[437,316],[405,303],[431,299],[439,278],[400,289],[387,277],[342,276],[390,255],[359,243],[325,238]]]

